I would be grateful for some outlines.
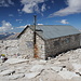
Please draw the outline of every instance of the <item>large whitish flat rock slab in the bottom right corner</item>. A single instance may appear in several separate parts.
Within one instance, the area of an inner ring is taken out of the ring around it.
[[[73,77],[80,77],[79,75],[77,75],[76,72],[71,72],[71,71],[59,71],[58,75],[60,77],[63,77],[64,79],[71,79]]]

